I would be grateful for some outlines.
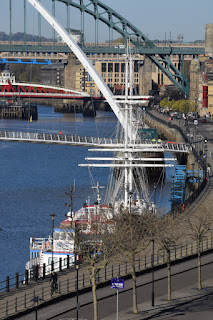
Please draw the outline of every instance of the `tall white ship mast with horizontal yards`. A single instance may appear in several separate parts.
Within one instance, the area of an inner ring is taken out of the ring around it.
[[[124,195],[121,199],[125,208],[128,208],[129,203],[132,201],[133,195],[133,168],[141,168],[144,170],[147,167],[168,167],[172,166],[170,164],[162,164],[162,163],[153,163],[149,164],[149,159],[145,157],[137,157],[135,154],[143,153],[147,149],[147,144],[142,143],[141,141],[136,140],[136,129],[133,125],[134,123],[134,115],[133,115],[133,104],[141,103],[141,100],[134,99],[133,96],[133,58],[131,54],[131,46],[130,40],[127,41],[127,50],[126,50],[126,59],[125,59],[125,95],[123,96],[123,100],[119,100],[119,103],[123,105],[124,112],[124,143],[123,144],[114,144],[112,145],[102,145],[103,148],[97,149],[89,149],[89,151],[104,151],[104,152],[115,152],[115,156],[112,157],[100,157],[100,158],[86,158],[86,160],[97,160],[97,161],[113,161],[113,163],[87,163],[87,164],[79,164],[82,167],[108,167],[108,168],[118,168],[118,170],[123,170],[123,179],[124,179]],[[120,97],[119,97],[120,98]],[[140,98],[140,97],[139,97]],[[117,97],[114,96],[116,100]],[[153,145],[151,144],[150,149],[152,150]],[[150,151],[151,151],[150,150]],[[156,148],[155,148],[156,150]],[[158,151],[158,150],[157,150]],[[134,160],[134,163],[133,163]],[[150,159],[151,160],[151,159]],[[161,159],[162,160],[162,159]],[[142,162],[141,162],[142,161]],[[160,161],[160,158],[155,158],[152,161]],[[122,163],[121,163],[122,162]],[[136,162],[136,163],[135,163]],[[143,173],[142,173],[143,175]],[[144,181],[144,177],[141,177],[140,180],[142,183],[147,183]],[[97,187],[95,187],[97,188]],[[143,189],[143,188],[142,188]],[[138,202],[140,207],[142,207],[142,201],[140,199],[140,194],[136,187],[136,192],[138,194]],[[135,193],[135,192],[134,192]],[[144,196],[144,194],[143,194]],[[149,197],[148,197],[149,198]],[[115,197],[114,197],[115,199]],[[150,200],[148,200],[150,201]]]

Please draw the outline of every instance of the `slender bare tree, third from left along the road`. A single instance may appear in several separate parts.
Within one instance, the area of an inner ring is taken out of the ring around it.
[[[166,253],[168,300],[171,300],[171,252],[180,244],[182,231],[179,228],[180,217],[173,214],[161,216],[156,220],[156,242],[159,253]]]

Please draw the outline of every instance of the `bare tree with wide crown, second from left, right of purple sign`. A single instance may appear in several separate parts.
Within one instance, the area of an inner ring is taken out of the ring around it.
[[[151,241],[148,230],[152,222],[150,212],[144,211],[136,215],[129,210],[120,212],[116,222],[117,231],[115,233],[119,238],[117,243],[119,243],[120,256],[122,260],[131,265],[134,313],[138,313],[136,261]]]

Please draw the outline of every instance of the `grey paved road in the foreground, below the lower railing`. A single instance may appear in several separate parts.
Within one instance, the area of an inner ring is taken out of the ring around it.
[[[120,320],[139,320],[152,319],[154,315],[161,314],[165,310],[182,305],[213,292],[213,253],[203,257],[203,287],[204,290],[197,289],[197,259],[186,261],[172,267],[172,301],[167,301],[167,270],[166,268],[155,272],[155,307],[151,307],[151,273],[138,277],[138,306],[140,313],[132,314],[132,291],[131,280],[125,281],[125,290],[119,293],[119,319]],[[184,271],[188,269],[189,271]],[[212,279],[211,279],[212,278]],[[210,280],[209,280],[210,279]],[[98,306],[100,320],[116,319],[116,290],[110,286],[98,290]],[[79,318],[93,319],[92,295],[87,293],[79,297],[81,308]],[[76,298],[67,299],[55,303],[44,309],[38,310],[39,320],[59,320],[75,319],[76,317]],[[66,312],[67,311],[67,312]],[[58,316],[55,316],[58,314]],[[151,318],[150,318],[151,317]],[[212,314],[213,318],[213,314]],[[20,320],[34,320],[35,313],[31,313]],[[79,320],[80,320],[79,319]],[[178,318],[177,318],[178,319]],[[207,318],[205,318],[207,319]]]

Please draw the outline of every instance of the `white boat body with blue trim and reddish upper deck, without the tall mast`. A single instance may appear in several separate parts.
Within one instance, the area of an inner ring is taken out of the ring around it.
[[[97,204],[84,204],[75,213],[69,211],[66,219],[63,220],[59,227],[53,228],[53,235],[46,238],[30,238],[30,260],[26,263],[26,270],[29,270],[29,277],[34,275],[33,269],[38,266],[38,277],[43,276],[44,265],[45,274],[52,271],[52,261],[54,269],[67,268],[79,260],[80,255],[75,255],[75,230],[81,234],[89,234],[93,223],[104,223],[110,218],[110,206]],[[61,260],[61,261],[60,261]],[[31,272],[30,272],[31,270]]]

